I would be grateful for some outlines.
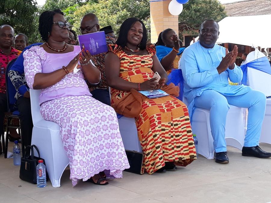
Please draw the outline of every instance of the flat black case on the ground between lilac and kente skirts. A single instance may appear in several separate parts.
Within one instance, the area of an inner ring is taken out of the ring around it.
[[[142,164],[144,154],[136,151],[125,150],[126,156],[129,161],[130,168],[124,171],[142,175]]]

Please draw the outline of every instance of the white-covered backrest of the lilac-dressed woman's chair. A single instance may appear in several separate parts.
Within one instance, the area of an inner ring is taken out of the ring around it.
[[[43,120],[42,115],[40,113],[40,106],[39,106],[40,92],[41,90],[30,89],[30,103],[31,103],[31,114],[32,114],[33,125]]]

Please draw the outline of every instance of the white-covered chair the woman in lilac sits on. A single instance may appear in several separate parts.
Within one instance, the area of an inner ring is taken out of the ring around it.
[[[59,125],[42,118],[39,94],[40,90],[30,89],[31,114],[34,125],[31,144],[38,147],[40,156],[45,159],[46,170],[52,186],[60,187],[61,176],[70,161],[63,147]]]

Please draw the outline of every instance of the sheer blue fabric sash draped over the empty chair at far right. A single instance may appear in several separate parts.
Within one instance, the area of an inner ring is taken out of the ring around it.
[[[255,59],[251,62],[248,62],[240,66],[240,68],[243,71],[243,79],[241,81],[241,84],[243,85],[248,85],[248,78],[247,78],[248,67],[256,69],[256,70],[260,70],[262,72],[266,72],[271,75],[271,66],[268,59],[266,57]]]

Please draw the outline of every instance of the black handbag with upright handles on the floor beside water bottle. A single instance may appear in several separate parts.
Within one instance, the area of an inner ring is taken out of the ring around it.
[[[43,160],[43,164],[45,165],[45,160],[43,158],[34,156],[34,148],[38,152],[39,155],[39,149],[36,145],[27,146],[25,148],[25,154],[23,154],[23,157],[21,158],[21,166],[20,166],[20,179],[25,180],[29,183],[37,184],[37,172],[36,167],[39,164],[39,160]],[[26,156],[27,150],[30,150],[31,154],[29,156]],[[45,165],[46,166],[46,165]],[[46,181],[48,181],[48,174],[46,170]]]

